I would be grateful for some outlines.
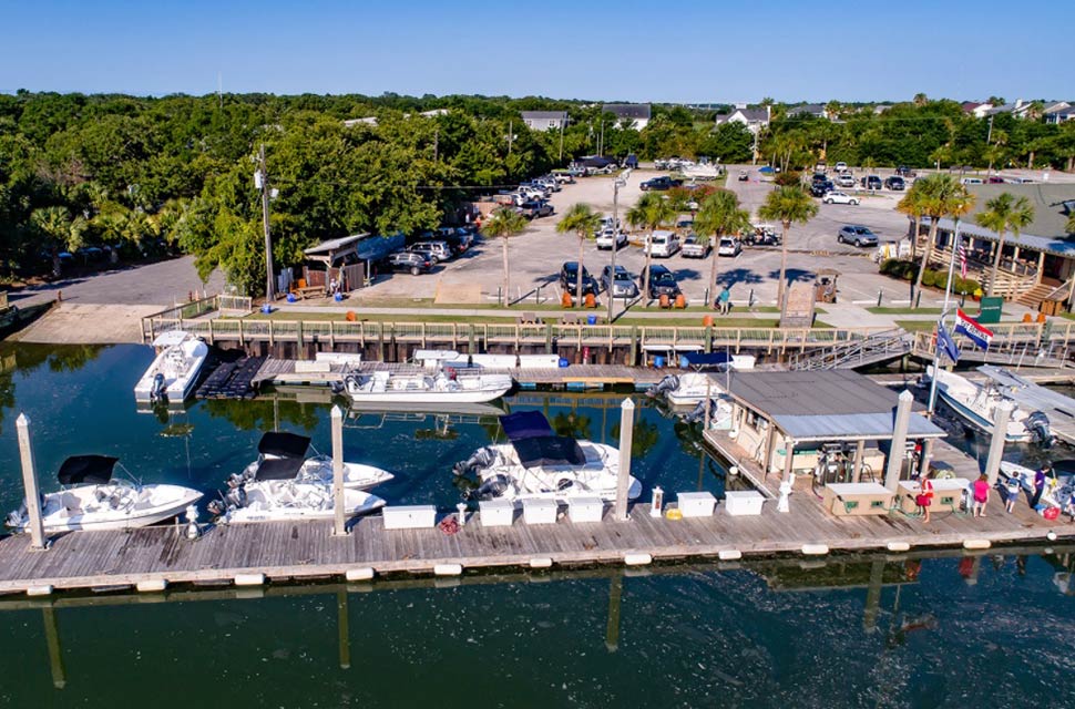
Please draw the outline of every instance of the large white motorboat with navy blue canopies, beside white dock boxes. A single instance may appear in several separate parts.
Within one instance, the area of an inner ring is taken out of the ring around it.
[[[502,497],[514,503],[551,499],[566,503],[573,496],[616,499],[620,451],[604,443],[556,435],[540,411],[500,417],[508,443],[487,445],[457,463],[457,475],[473,475],[471,496]],[[642,494],[642,483],[631,476],[627,497]]]

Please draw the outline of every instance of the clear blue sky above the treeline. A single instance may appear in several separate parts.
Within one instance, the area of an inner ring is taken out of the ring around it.
[[[2,0],[0,91],[1073,99],[1065,3]]]

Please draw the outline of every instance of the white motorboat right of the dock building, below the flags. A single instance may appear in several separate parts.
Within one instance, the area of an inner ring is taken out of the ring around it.
[[[936,378],[938,395],[966,423],[992,433],[997,407],[1001,402],[1009,401],[1013,410],[1004,436],[1006,441],[1038,442],[1043,445],[1052,443],[1048,417],[1041,411],[1023,410],[1018,403],[1005,397],[992,380],[979,383],[955,372],[936,369],[932,364],[926,368],[926,376]]]

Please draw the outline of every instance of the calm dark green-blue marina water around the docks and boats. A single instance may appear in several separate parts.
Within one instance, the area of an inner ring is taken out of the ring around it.
[[[260,431],[274,425],[329,448],[325,402],[198,403],[164,421],[135,412],[131,388],[151,359],[146,348],[9,347],[2,354],[4,510],[21,496],[20,410],[33,420],[49,487],[48,471],[74,453],[113,453],[146,482],[211,491],[249,462]],[[614,442],[618,399],[605,403],[524,395],[508,407],[545,409],[563,431]],[[446,427],[362,415],[348,427],[349,459],[399,474],[378,494],[443,506],[460,494],[451,464],[496,434],[494,423],[477,420]],[[658,411],[641,410],[635,439],[634,470],[647,486],[720,491],[723,469]],[[477,576],[451,587],[389,582],[351,594],[308,586],[51,615],[0,604],[0,706],[1073,706],[1069,567],[1042,551],[976,563],[861,557],[626,577],[606,568],[536,580]],[[868,592],[871,577],[877,595]],[[340,668],[341,627],[348,669]],[[50,662],[51,630],[62,667]]]

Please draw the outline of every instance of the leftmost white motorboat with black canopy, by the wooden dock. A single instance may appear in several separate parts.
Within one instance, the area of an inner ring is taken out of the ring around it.
[[[144,527],[176,516],[202,497],[190,487],[113,477],[117,462],[108,455],[72,455],[63,461],[57,473],[60,491],[41,495],[45,534]],[[8,514],[7,526],[16,532],[25,532],[29,524],[25,502]]]

